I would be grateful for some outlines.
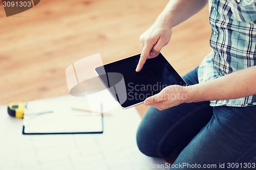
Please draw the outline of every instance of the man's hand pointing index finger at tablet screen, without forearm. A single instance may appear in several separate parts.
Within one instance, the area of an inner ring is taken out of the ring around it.
[[[140,36],[142,53],[136,71],[139,72],[146,59],[157,57],[164,45],[170,41],[172,29],[161,22],[155,22],[146,32]]]

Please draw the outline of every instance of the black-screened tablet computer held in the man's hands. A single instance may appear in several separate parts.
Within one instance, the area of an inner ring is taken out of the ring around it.
[[[139,59],[140,54],[95,68],[99,79],[123,109],[143,103],[166,86],[187,85],[161,53],[147,59],[136,72]]]

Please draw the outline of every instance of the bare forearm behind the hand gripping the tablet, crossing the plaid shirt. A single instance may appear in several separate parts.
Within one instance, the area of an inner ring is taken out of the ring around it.
[[[256,66],[186,87],[188,102],[238,99],[256,94]]]

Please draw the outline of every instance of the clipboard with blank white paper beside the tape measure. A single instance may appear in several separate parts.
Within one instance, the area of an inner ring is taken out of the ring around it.
[[[73,107],[81,109],[73,110]],[[25,105],[22,133],[24,135],[103,133],[103,114],[93,115],[82,111],[83,108],[88,107],[86,98],[71,95],[28,102]],[[100,104],[94,109],[95,112],[97,109],[101,109]]]

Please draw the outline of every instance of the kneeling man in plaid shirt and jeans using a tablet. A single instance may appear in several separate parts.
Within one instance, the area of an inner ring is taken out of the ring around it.
[[[158,56],[173,27],[206,4],[171,0],[140,37],[136,71]],[[183,77],[189,86],[168,86],[144,101],[152,107],[138,128],[137,144],[148,156],[179,155],[171,169],[255,169],[256,1],[209,0],[209,22],[212,52]]]

